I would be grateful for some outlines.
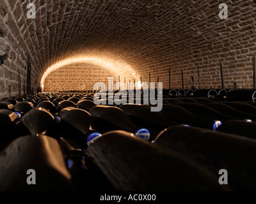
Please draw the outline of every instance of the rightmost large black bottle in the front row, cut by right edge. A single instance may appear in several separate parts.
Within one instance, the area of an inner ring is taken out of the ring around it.
[[[227,170],[228,186],[234,190],[256,189],[256,142],[252,139],[202,128],[175,126],[160,133],[154,143],[196,159],[216,174]]]

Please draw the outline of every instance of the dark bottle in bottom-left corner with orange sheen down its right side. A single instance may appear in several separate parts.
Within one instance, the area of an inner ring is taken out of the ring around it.
[[[49,136],[13,140],[0,154],[0,170],[0,191],[73,189],[60,145]]]

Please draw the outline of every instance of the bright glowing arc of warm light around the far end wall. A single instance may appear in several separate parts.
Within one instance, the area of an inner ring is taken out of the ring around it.
[[[64,59],[63,61],[57,62],[56,64],[53,64],[51,67],[49,67],[43,77],[41,84],[43,85],[45,82],[45,78],[56,69],[62,68],[63,66],[67,66],[69,64],[78,64],[78,63],[86,63],[86,64],[95,64],[97,66],[101,66],[104,69],[108,69],[108,71],[111,71],[115,75],[122,75],[122,73],[129,73],[132,77],[135,77],[136,80],[138,80],[138,75],[134,71],[134,69],[131,68],[131,66],[123,61],[113,60],[109,61],[109,59],[105,59],[104,57],[70,57],[67,59]]]

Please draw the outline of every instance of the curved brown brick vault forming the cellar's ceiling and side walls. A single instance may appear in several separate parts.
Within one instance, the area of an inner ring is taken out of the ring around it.
[[[36,19],[26,18],[30,2],[35,3]],[[227,3],[228,19],[218,17],[220,3]],[[0,66],[0,97],[8,95],[10,84],[17,93],[19,72],[26,82],[27,56],[35,89],[47,68],[70,56],[124,62],[136,71],[136,78],[148,82],[150,72],[151,81],[159,77],[165,88],[169,68],[173,88],[181,87],[182,70],[185,88],[196,87],[197,64],[201,88],[219,88],[223,62],[225,88],[235,82],[237,87],[252,87],[255,4],[254,0],[1,0],[1,51],[9,58]],[[129,77],[131,70],[122,70],[120,64],[111,75]],[[195,77],[195,84],[189,83],[190,77]]]

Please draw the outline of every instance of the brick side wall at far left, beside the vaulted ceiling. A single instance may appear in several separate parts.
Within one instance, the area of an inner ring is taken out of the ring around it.
[[[31,91],[36,92],[35,53],[28,35],[31,20],[25,18],[20,1],[0,1],[0,55],[8,54],[4,64],[0,64],[0,99],[27,93],[28,57],[31,59]],[[20,87],[19,87],[20,75]],[[37,77],[36,77],[37,76]]]

